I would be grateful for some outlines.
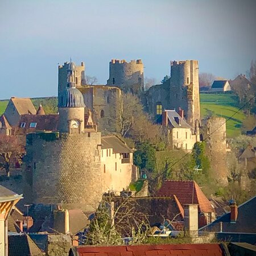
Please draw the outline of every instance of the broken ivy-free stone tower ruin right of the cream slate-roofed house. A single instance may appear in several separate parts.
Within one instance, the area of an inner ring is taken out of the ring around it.
[[[226,165],[226,119],[211,117],[204,123],[203,138],[206,152],[210,160],[213,177],[222,185],[228,184],[228,168]]]

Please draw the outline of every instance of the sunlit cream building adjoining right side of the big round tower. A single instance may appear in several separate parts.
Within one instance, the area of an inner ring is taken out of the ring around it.
[[[101,137],[101,172],[104,192],[118,193],[137,176],[133,150],[117,136]]]

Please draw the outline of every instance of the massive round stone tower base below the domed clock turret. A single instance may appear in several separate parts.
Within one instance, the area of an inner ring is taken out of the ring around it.
[[[63,204],[91,210],[101,200],[101,133],[28,134],[26,176],[31,176],[30,203]]]

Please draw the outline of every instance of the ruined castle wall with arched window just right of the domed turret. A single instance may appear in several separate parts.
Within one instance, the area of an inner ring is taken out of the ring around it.
[[[80,86],[85,105],[92,110],[98,130],[117,131],[122,111],[122,93],[117,87],[105,85]],[[102,117],[101,112],[104,112]]]

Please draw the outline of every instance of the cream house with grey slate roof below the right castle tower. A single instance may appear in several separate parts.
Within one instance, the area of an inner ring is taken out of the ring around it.
[[[192,133],[192,127],[183,118],[183,110],[164,110],[162,114],[162,125],[167,128],[168,142],[174,150],[192,150],[196,142],[200,141],[199,134]]]

